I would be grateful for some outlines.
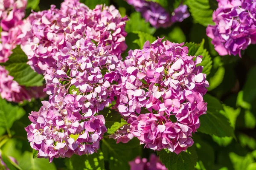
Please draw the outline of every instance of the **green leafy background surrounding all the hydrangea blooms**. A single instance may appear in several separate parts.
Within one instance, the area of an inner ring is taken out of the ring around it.
[[[206,26],[212,22],[212,12],[217,8],[216,0],[151,0],[172,11],[180,2],[189,6],[191,16],[170,28],[155,29],[124,0],[81,0],[90,8],[97,4],[113,4],[122,16],[128,15],[126,25],[127,56],[130,49],[142,48],[146,40],[153,42],[165,37],[172,42],[185,42],[189,54],[202,55],[203,72],[209,81],[208,93],[204,97],[207,114],[200,117],[201,126],[193,135],[194,145],[187,152],[176,155],[167,150],[155,154],[169,170],[256,170],[256,45],[250,45],[238,56],[218,56]],[[28,0],[27,15],[34,11],[57,8],[61,0]],[[17,82],[26,87],[42,85],[43,78],[26,65],[26,56],[17,47],[9,61],[4,63]],[[0,99],[0,151],[10,170],[129,170],[128,161],[137,156],[148,158],[152,150],[143,149],[137,139],[127,144],[116,144],[113,139],[101,141],[101,149],[91,156],[72,156],[54,159],[35,158],[29,146],[24,127],[30,124],[28,114],[38,111],[41,100],[15,104]],[[125,125],[118,113],[105,110],[108,134]],[[17,159],[12,162],[8,156]],[[0,166],[0,169],[2,167]]]

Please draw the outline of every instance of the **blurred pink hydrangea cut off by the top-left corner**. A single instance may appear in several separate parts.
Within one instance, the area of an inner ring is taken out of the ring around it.
[[[0,62],[6,62],[12,50],[20,43],[18,28],[25,17],[26,0],[0,0]]]

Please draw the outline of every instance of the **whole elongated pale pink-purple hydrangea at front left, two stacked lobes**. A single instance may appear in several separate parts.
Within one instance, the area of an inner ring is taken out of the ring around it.
[[[96,47],[84,38],[65,44],[55,55],[57,68],[44,76],[49,102],[31,113],[32,124],[26,127],[38,156],[50,161],[99,149],[107,129],[97,113],[113,102],[111,84],[119,78],[119,59],[108,52],[111,46]]]

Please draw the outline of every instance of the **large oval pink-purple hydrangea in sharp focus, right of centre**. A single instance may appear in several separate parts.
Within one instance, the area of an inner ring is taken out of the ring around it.
[[[203,96],[209,83],[203,67],[196,66],[202,56],[188,56],[184,43],[162,40],[129,51],[120,64],[116,108],[145,147],[180,153],[193,144],[198,117],[207,110]]]

